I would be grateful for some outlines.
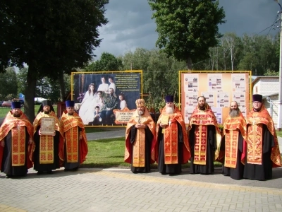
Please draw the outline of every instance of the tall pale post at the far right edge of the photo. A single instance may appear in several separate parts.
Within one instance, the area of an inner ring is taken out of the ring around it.
[[[279,3],[278,0],[274,0],[278,3],[278,5],[280,6],[280,11],[278,11],[278,13],[280,13],[280,55],[279,55],[279,94],[278,94],[278,120],[277,120],[277,130],[281,131],[281,117],[282,117],[282,16],[281,16],[281,12],[282,12],[282,6]]]

